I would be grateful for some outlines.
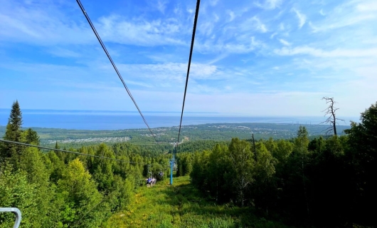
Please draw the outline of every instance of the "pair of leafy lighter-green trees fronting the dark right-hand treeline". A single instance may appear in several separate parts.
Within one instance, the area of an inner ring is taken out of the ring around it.
[[[256,157],[249,142],[234,138],[228,147],[216,145],[211,152],[196,153],[191,182],[217,202],[240,206],[256,202],[258,207],[267,207],[270,201],[265,193],[273,188],[277,161],[262,142],[255,149]]]

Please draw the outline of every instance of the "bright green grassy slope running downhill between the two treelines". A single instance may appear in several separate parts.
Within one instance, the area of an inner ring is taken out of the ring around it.
[[[250,209],[216,205],[201,197],[188,177],[140,187],[133,202],[114,214],[107,227],[285,227],[256,217]]]

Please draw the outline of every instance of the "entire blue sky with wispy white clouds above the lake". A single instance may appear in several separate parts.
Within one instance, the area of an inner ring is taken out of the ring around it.
[[[82,0],[143,111],[181,110],[196,1]],[[1,1],[0,108],[136,110],[75,1]],[[377,1],[202,0],[185,110],[341,116],[377,100]]]

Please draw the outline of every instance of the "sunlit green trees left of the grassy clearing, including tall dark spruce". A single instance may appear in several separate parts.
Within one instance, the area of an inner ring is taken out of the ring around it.
[[[38,134],[21,130],[21,124],[15,102],[4,140],[38,145]],[[144,177],[169,176],[169,155],[142,156],[147,151],[137,145],[102,143],[72,151],[122,162],[0,142],[0,207],[20,209],[21,227],[106,227],[112,213],[127,207]],[[0,227],[13,223],[13,214],[0,214]]]

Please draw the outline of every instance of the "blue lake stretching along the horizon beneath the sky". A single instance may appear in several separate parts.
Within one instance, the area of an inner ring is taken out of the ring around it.
[[[6,125],[9,109],[0,109],[0,125]],[[180,113],[143,113],[150,128],[178,126]],[[78,130],[147,128],[142,117],[127,111],[22,110],[23,127]],[[323,117],[230,117],[217,113],[184,113],[182,125],[204,123],[300,123],[318,124]],[[349,121],[346,121],[348,125]]]

